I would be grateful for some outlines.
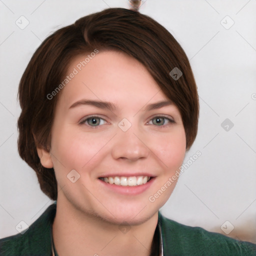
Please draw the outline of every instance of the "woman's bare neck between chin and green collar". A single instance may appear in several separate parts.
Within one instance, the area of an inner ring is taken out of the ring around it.
[[[149,256],[157,220],[158,212],[141,224],[123,227],[84,214],[58,198],[53,242],[58,256]]]

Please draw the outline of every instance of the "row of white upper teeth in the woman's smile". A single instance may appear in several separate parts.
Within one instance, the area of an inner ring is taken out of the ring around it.
[[[145,184],[150,177],[148,176],[130,176],[130,177],[124,177],[124,176],[115,176],[115,177],[104,177],[100,178],[104,180],[107,183],[110,184],[116,184],[116,185],[122,185],[122,186],[135,186],[135,185],[142,185]]]

